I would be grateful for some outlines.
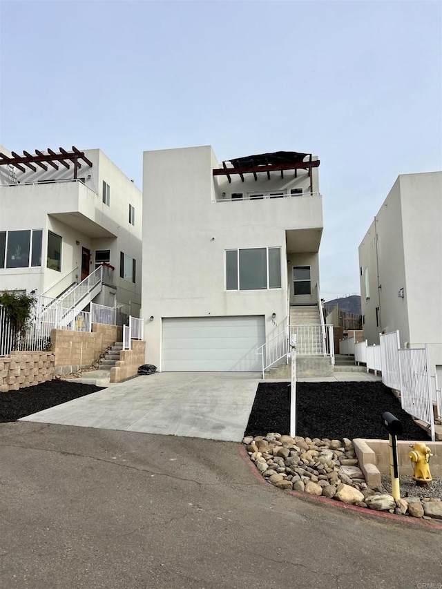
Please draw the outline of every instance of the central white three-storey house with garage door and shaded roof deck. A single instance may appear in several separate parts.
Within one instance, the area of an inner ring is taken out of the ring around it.
[[[149,363],[162,371],[259,371],[256,349],[287,334],[287,322],[302,322],[296,310],[305,317],[313,310],[304,322],[318,327],[318,166],[296,152],[222,164],[211,146],[144,153]]]

